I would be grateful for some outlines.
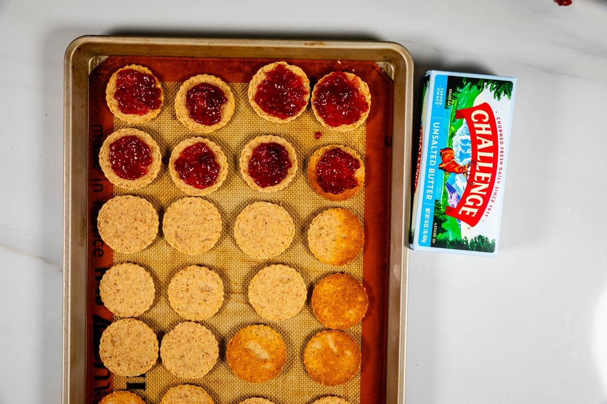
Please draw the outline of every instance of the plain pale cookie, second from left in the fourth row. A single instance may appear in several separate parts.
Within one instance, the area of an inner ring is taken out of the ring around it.
[[[206,320],[222,306],[223,282],[216,272],[191,265],[175,274],[167,294],[171,307],[181,317]]]

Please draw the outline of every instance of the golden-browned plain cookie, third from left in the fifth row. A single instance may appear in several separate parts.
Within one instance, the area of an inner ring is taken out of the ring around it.
[[[226,360],[234,374],[245,382],[267,382],[285,366],[287,347],[273,328],[250,325],[229,340]]]

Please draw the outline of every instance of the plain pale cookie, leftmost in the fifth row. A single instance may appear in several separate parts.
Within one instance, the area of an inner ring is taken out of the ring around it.
[[[123,319],[111,323],[99,343],[99,356],[110,371],[120,376],[139,376],[158,359],[158,339],[146,323]]]

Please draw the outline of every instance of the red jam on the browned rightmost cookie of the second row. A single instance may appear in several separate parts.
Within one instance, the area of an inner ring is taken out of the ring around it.
[[[331,194],[341,194],[358,185],[354,171],[361,168],[361,162],[356,157],[337,147],[328,150],[316,165],[316,178],[323,191]]]

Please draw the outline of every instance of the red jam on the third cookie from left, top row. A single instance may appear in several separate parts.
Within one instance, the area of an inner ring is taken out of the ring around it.
[[[304,81],[283,65],[276,65],[266,73],[257,86],[254,101],[267,114],[280,119],[297,115],[308,103]]]

